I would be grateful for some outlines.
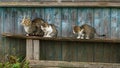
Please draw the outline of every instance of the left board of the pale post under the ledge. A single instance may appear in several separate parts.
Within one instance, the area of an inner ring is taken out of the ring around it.
[[[27,60],[34,59],[32,39],[26,39],[26,58]]]

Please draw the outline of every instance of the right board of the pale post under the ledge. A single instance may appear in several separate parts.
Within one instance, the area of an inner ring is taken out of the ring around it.
[[[33,47],[34,47],[34,60],[39,60],[40,56],[40,41],[39,40],[33,40]]]

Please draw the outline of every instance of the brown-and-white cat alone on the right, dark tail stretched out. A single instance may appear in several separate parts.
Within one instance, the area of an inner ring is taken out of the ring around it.
[[[95,35],[98,37],[104,37],[105,35],[99,35],[96,29],[90,25],[83,24],[82,26],[74,26],[73,33],[78,34],[77,39],[93,39]]]

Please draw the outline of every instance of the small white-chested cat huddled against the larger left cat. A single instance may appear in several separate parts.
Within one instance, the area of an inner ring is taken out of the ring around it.
[[[41,29],[44,32],[43,37],[57,37],[58,31],[54,24],[42,23]]]

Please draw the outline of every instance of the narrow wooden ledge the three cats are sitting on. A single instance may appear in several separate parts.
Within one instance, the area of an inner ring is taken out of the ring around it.
[[[89,40],[81,40],[72,37],[57,37],[57,38],[45,38],[38,36],[25,36],[20,34],[2,33],[3,37],[7,38],[17,38],[17,39],[35,39],[35,40],[46,40],[46,41],[76,41],[76,42],[90,42],[90,43],[120,43],[120,39],[109,39],[109,38],[95,38]]]

